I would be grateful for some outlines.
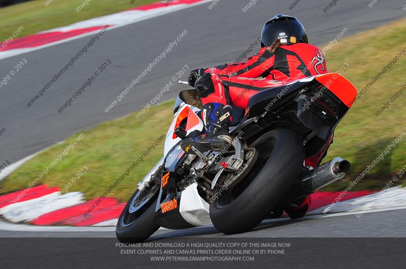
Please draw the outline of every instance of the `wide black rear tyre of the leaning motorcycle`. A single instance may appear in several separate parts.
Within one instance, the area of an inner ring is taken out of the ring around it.
[[[287,129],[276,129],[258,138],[250,147],[259,157],[241,183],[217,189],[210,204],[210,218],[222,233],[252,230],[276,207],[297,179],[304,160],[301,139]]]

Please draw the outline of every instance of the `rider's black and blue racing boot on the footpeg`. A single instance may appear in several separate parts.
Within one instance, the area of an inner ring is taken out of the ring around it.
[[[231,144],[228,128],[232,120],[232,108],[220,103],[208,103],[201,108],[201,118],[207,132],[195,138],[186,138],[181,142],[183,150],[188,152],[194,146],[200,152],[221,150]]]

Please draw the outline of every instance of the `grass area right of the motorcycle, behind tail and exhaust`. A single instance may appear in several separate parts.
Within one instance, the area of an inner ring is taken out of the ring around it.
[[[402,19],[343,39],[331,52],[327,52],[326,61],[329,70],[335,71],[347,62],[350,67],[343,75],[360,91],[370,82],[371,77],[382,71],[388,62],[406,47],[405,23],[406,20]],[[337,127],[334,143],[326,160],[335,156],[347,158],[352,163],[352,170],[345,180],[330,185],[329,189],[347,187],[348,182],[362,173],[388,144],[394,142],[402,132],[406,132],[404,127],[406,92],[392,102],[389,109],[379,117],[375,115],[375,112],[390,101],[392,95],[406,83],[405,73],[406,56],[403,56],[354,103]],[[406,165],[406,137],[354,189],[380,188],[404,165]],[[406,176],[401,179],[400,182],[404,182]]]

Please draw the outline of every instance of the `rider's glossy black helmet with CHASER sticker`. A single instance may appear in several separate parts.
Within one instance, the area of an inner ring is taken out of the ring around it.
[[[261,47],[269,47],[277,39],[280,39],[283,45],[309,44],[308,34],[300,21],[295,17],[284,14],[276,15],[263,25]]]

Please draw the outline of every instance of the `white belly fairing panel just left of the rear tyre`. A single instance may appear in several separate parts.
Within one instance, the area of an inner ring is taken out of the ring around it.
[[[194,226],[212,224],[209,204],[197,193],[197,182],[194,182],[182,191],[179,212],[187,222]]]

